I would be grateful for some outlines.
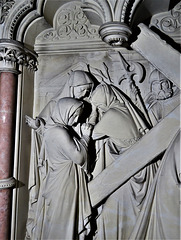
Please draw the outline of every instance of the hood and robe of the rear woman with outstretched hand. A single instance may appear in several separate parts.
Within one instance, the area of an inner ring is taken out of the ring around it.
[[[58,91],[58,93],[47,103],[47,105],[42,109],[38,115],[38,120],[40,127],[32,132],[32,150],[31,150],[31,159],[30,159],[30,173],[29,173],[29,210],[28,210],[28,219],[26,223],[26,238],[31,238],[31,231],[33,228],[33,222],[36,218],[37,212],[37,201],[38,197],[42,191],[42,184],[46,176],[46,166],[44,166],[44,152],[42,147],[42,136],[44,132],[44,126],[49,119],[49,116],[52,115],[56,103],[59,99],[64,97],[74,97],[73,89],[76,86],[84,86],[90,84],[92,86],[91,92],[94,88],[94,82],[91,79],[89,73],[85,71],[74,71],[71,74],[69,81],[66,82],[65,86]],[[89,102],[89,99],[86,98],[86,101]],[[76,131],[81,135],[80,124],[77,126]],[[40,156],[41,155],[41,156]]]

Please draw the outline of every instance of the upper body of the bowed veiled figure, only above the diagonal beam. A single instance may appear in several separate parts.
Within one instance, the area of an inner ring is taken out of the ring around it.
[[[92,136],[96,140],[97,159],[93,171],[96,177],[148,131],[148,124],[124,94],[112,85],[97,86],[91,102],[97,111]]]

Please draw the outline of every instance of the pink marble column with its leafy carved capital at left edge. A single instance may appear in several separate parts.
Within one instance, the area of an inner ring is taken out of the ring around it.
[[[0,239],[9,239],[11,219],[17,75],[19,66],[36,70],[36,56],[19,42],[0,40]]]

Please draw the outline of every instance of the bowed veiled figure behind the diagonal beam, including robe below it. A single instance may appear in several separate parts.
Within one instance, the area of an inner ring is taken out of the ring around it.
[[[128,98],[112,85],[100,84],[92,102],[99,116],[92,136],[96,140],[97,161],[93,171],[96,177],[113,161],[119,161],[119,156],[148,131],[148,125]],[[97,240],[129,239],[156,167],[146,167],[108,197],[98,217]]]

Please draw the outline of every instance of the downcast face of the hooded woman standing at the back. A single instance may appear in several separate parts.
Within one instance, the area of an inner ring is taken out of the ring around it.
[[[91,84],[85,84],[73,87],[73,95],[77,99],[88,97],[92,90]]]

